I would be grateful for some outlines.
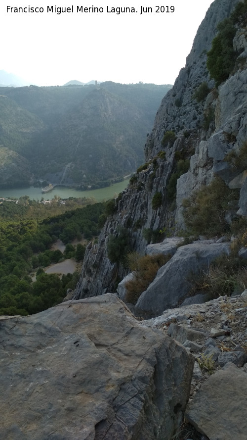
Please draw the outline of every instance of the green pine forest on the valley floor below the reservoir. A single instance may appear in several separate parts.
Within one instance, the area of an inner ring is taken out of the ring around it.
[[[61,204],[57,198],[49,205],[28,196],[18,203],[2,201],[0,315],[27,315],[61,302],[67,289],[75,288],[79,272],[59,277],[43,269],[68,258],[82,263],[84,244],[98,236],[105,210],[104,203],[90,199],[71,198]],[[58,239],[65,244],[63,252],[51,249]],[[78,244],[71,244],[75,239]]]

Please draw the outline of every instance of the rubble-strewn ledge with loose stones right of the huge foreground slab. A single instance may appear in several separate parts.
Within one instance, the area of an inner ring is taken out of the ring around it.
[[[194,355],[185,417],[203,436],[193,439],[246,440],[247,290],[165,310],[143,323],[163,330]]]

